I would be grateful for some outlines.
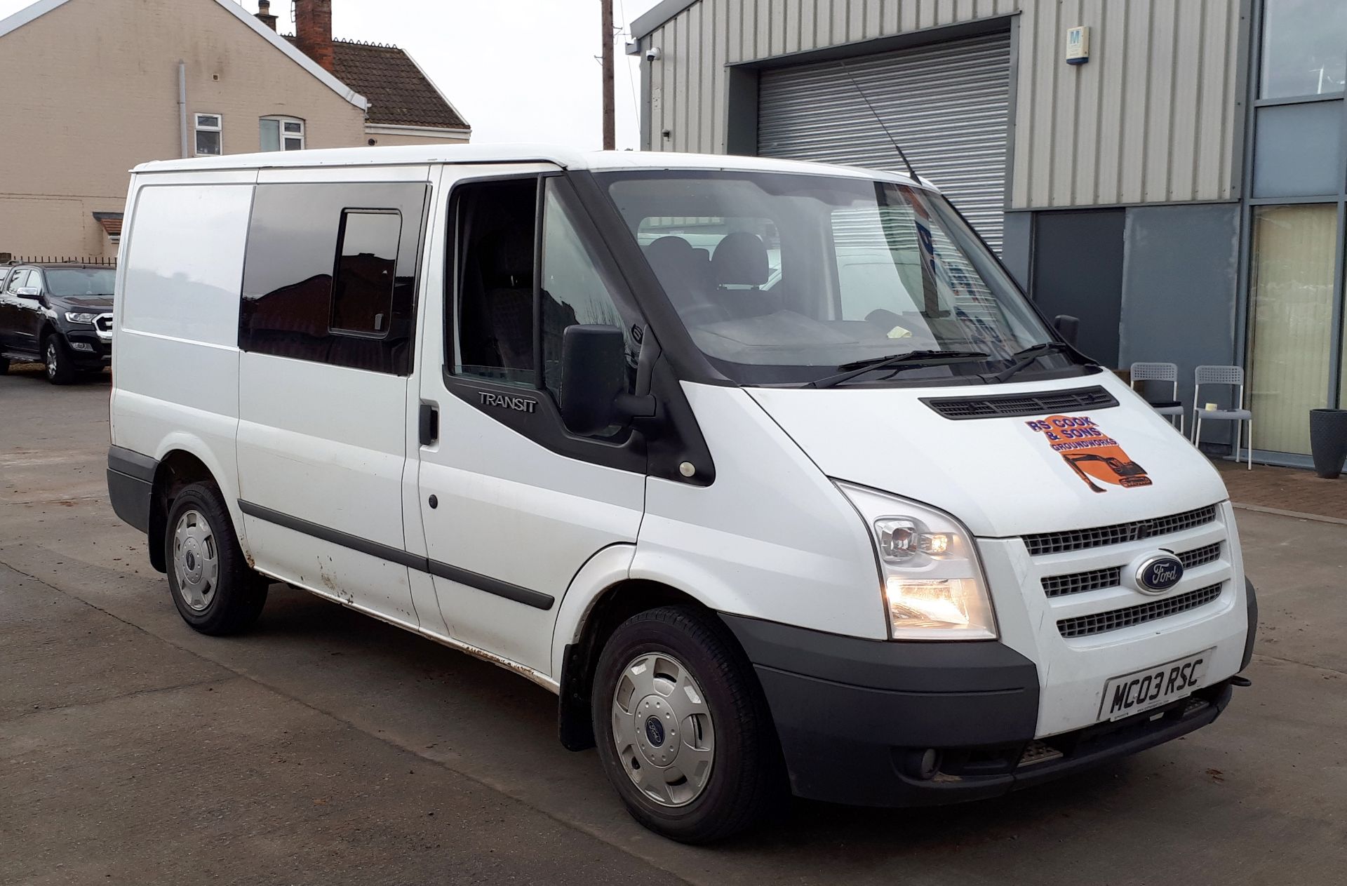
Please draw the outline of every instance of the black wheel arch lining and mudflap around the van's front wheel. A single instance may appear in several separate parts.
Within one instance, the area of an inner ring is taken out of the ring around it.
[[[721,617],[692,595],[668,584],[645,579],[629,579],[606,588],[590,606],[581,625],[579,640],[566,646],[562,658],[560,693],[558,700],[558,737],[567,750],[594,747],[594,726],[590,712],[590,689],[598,669],[599,653],[613,632],[628,618],[661,606],[692,606]],[[733,637],[731,632],[726,632]],[[734,641],[735,644],[738,641]],[[742,653],[742,648],[740,649]],[[746,658],[746,657],[745,657]],[[754,675],[754,680],[756,680]]]

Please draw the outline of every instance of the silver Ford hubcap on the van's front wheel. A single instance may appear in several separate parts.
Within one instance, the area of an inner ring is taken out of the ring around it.
[[[678,658],[637,656],[613,691],[613,741],[632,784],[655,803],[682,807],[706,788],[715,728],[702,687]]]

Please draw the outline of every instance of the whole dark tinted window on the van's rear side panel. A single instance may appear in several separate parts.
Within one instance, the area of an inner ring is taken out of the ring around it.
[[[259,184],[240,350],[411,374],[428,187]]]

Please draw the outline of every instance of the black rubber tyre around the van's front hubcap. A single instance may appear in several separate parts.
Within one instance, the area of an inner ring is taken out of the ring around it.
[[[613,735],[618,681],[626,665],[645,653],[668,654],[687,667],[714,723],[710,774],[686,805],[661,805],[643,793],[628,777],[628,763]],[[591,696],[603,773],[632,816],[651,831],[680,843],[722,840],[757,824],[784,797],[785,776],[772,715],[752,665],[714,615],[692,606],[633,615],[603,646]]]

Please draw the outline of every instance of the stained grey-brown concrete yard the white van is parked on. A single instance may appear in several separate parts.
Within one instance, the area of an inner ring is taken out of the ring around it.
[[[626,816],[555,699],[273,587],[178,618],[105,501],[106,381],[0,377],[0,882],[1339,883],[1347,526],[1239,514],[1265,630],[1211,727],[997,801],[796,801],[710,848]],[[434,815],[432,815],[434,813]]]

